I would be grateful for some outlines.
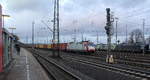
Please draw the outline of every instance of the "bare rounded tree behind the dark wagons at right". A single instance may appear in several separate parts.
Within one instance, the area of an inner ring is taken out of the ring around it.
[[[129,43],[142,42],[142,39],[143,39],[142,30],[135,29],[130,33]]]

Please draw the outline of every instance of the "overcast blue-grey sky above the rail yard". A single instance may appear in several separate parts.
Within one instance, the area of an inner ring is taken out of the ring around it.
[[[35,22],[35,41],[46,43],[52,39],[50,28],[53,24],[54,0],[0,0],[5,19],[5,28],[16,27],[14,33],[23,42],[31,41],[32,22]],[[60,0],[60,38],[61,42],[84,39],[106,43],[106,8],[110,8],[118,20],[118,39],[125,40],[126,25],[128,34],[134,29],[142,29],[145,19],[145,34],[150,34],[150,0]],[[114,22],[115,27],[115,22]],[[115,33],[112,39],[115,42]]]

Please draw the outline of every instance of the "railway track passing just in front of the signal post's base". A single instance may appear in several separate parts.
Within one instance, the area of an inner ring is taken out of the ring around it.
[[[141,70],[137,70],[137,69],[133,69],[130,67],[123,67],[123,66],[119,66],[119,65],[112,65],[112,64],[107,64],[107,63],[99,63],[97,61],[93,61],[85,58],[81,58],[81,57],[75,57],[75,56],[67,56],[67,55],[63,55],[64,59],[70,59],[76,62],[80,62],[83,64],[87,64],[87,65],[91,65],[91,66],[95,66],[95,67],[99,67],[99,68],[104,68],[106,70],[111,70],[114,72],[119,72],[119,73],[123,73],[125,75],[129,75],[138,79],[142,79],[142,80],[148,80],[150,79],[150,72],[147,71],[141,71]]]

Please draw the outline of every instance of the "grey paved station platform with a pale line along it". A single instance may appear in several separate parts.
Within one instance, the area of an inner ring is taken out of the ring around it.
[[[50,80],[42,66],[24,48],[20,54],[14,53],[13,67],[0,80]]]

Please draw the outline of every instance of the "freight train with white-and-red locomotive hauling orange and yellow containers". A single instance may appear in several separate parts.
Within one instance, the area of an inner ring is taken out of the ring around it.
[[[94,43],[89,41],[60,43],[58,46],[61,51],[66,52],[94,53],[96,51]],[[28,47],[32,47],[32,45],[28,44]],[[56,49],[57,45],[35,44],[34,47],[39,49],[53,50]]]

